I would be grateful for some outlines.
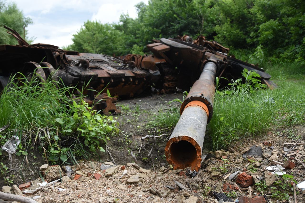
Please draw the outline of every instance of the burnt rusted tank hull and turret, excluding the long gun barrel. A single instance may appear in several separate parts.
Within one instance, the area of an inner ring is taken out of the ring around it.
[[[79,53],[66,51],[48,44],[29,45],[15,31],[8,27],[19,45],[0,45],[0,91],[9,82],[12,74],[20,72],[26,76],[33,73],[46,80],[50,75],[52,79],[61,78],[65,85],[77,86],[79,89],[89,82],[84,94],[85,101],[94,105],[96,110],[103,109],[103,113],[119,113],[115,103],[117,98],[128,98],[141,94],[151,86],[159,93],[174,91],[189,91],[198,80],[206,61],[217,64],[215,77],[224,87],[228,81],[242,77],[242,70],[256,71],[261,81],[268,87],[275,84],[269,81],[270,75],[263,69],[249,64],[233,56],[228,56],[228,48],[215,41],[207,41],[199,36],[193,40],[188,35],[178,38],[161,38],[155,43],[147,45],[152,55],[129,54],[122,57],[113,57],[105,54]],[[44,68],[40,68],[44,67]],[[109,90],[113,97],[108,97]],[[95,96],[95,92],[104,94]]]

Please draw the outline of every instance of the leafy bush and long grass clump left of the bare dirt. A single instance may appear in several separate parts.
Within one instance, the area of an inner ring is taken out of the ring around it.
[[[27,155],[27,149],[39,143],[51,162],[75,162],[75,155],[88,158],[92,153],[87,149],[105,152],[101,145],[116,132],[116,121],[93,111],[83,95],[73,99],[75,90],[60,80],[44,81],[36,73],[30,79],[16,73],[0,98],[0,125],[10,124],[1,132],[1,143],[16,134],[21,141],[17,155]]]

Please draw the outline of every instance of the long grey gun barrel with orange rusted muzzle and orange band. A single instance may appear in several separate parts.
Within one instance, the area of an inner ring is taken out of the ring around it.
[[[174,169],[200,168],[206,124],[213,114],[216,70],[214,62],[207,62],[181,105],[181,117],[165,147],[167,162]]]

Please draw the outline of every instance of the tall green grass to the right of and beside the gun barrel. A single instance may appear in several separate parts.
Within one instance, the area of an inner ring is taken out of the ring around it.
[[[226,89],[229,94],[216,93],[213,117],[206,131],[208,148],[226,148],[241,137],[305,123],[305,68],[298,64],[269,65],[267,73],[278,88],[253,91],[248,84]],[[154,122],[174,127],[179,109],[174,110],[176,113],[170,109],[170,113],[159,113]]]

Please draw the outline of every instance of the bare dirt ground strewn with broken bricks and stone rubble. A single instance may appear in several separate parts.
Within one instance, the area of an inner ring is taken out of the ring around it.
[[[227,151],[204,149],[206,158],[198,173],[173,170],[163,156],[168,130],[155,141],[140,138],[152,134],[144,126],[160,110],[156,105],[182,96],[155,94],[119,101],[121,134],[108,142],[107,156],[80,160],[78,166],[70,166],[72,172],[65,166],[42,165],[37,170],[51,184],[39,176],[27,177],[28,183],[18,185],[23,196],[38,202],[294,202],[293,183],[305,180],[304,126],[241,139]],[[291,139],[292,132],[298,140]],[[137,164],[131,151],[137,154]],[[305,191],[295,188],[297,202],[304,202]],[[16,190],[2,187],[7,193],[18,194]]]

